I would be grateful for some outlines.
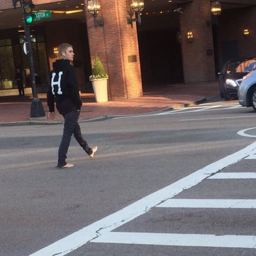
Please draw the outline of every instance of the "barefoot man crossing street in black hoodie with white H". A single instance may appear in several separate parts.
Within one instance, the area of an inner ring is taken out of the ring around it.
[[[53,70],[50,74],[50,86],[47,92],[47,104],[49,106],[48,117],[54,119],[54,102],[59,113],[64,117],[63,136],[59,147],[58,165],[59,168],[70,168],[73,164],[66,162],[68,147],[72,135],[90,158],[98,147],[90,148],[81,134],[78,118],[82,106],[79,98],[79,89],[75,68],[70,64],[74,59],[73,46],[62,44],[59,46],[60,60],[53,63]]]

